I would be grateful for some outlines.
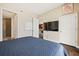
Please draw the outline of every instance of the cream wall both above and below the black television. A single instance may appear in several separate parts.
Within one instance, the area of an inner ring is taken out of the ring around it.
[[[63,15],[62,6],[58,6],[44,14],[41,14],[39,19],[40,23],[44,22],[51,22],[59,20],[59,17]],[[58,41],[59,40],[59,32],[56,31],[44,31],[43,33],[44,39],[48,39],[51,41]]]

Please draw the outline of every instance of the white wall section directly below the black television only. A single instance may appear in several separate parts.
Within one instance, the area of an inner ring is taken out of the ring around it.
[[[44,39],[49,41],[59,42],[59,34],[58,32],[52,31],[44,31]]]

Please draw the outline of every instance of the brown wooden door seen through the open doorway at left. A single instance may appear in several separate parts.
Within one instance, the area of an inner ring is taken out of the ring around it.
[[[3,18],[3,38],[11,39],[11,18]]]

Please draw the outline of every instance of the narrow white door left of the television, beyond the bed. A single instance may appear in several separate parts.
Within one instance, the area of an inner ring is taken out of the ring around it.
[[[32,23],[32,34],[34,37],[39,37],[39,19],[33,18],[33,23]]]

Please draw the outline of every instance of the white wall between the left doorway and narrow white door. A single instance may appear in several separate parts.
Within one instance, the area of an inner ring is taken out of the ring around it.
[[[32,16],[29,15],[29,17],[27,16],[27,13],[25,11],[21,11],[22,9],[20,8],[20,6],[16,7],[14,5],[9,5],[9,4],[4,4],[0,6],[3,9],[6,9],[8,11],[14,12],[17,14],[17,37],[24,37],[24,36],[30,36],[31,35],[31,30],[27,31],[25,29],[25,25],[28,22],[32,22]],[[28,35],[29,34],[29,35]]]

